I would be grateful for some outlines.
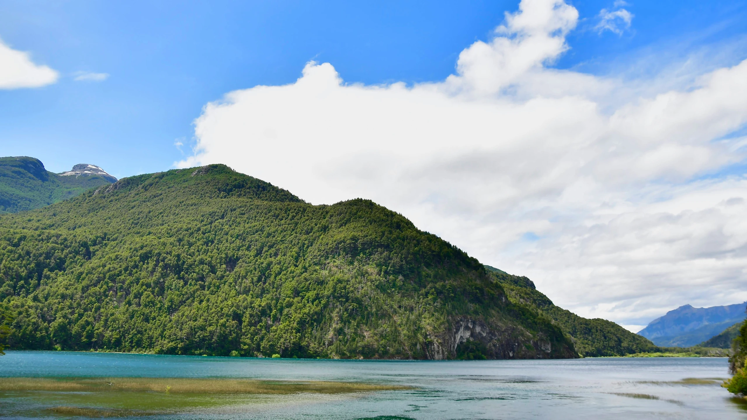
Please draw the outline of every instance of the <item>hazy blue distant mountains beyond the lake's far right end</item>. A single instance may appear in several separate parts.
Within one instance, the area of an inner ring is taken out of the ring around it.
[[[698,308],[687,304],[654,319],[638,334],[662,346],[690,347],[698,343],[705,345],[711,337],[715,338],[729,327],[743,322],[746,307],[747,302]],[[721,341],[724,340],[725,338]],[[722,347],[722,345],[709,345],[709,347]],[[724,348],[728,348],[728,345]]]

